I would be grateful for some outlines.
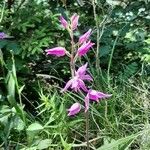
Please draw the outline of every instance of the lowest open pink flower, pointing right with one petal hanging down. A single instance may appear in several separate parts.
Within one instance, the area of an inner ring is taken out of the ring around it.
[[[89,100],[99,102],[102,98],[109,98],[111,94],[105,94],[96,90],[89,90],[85,97],[85,112],[89,109]]]

